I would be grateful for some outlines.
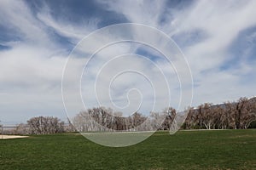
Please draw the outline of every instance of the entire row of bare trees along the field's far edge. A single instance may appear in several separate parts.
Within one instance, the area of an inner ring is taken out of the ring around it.
[[[183,120],[184,116],[186,119]],[[212,105],[205,103],[180,113],[172,108],[151,112],[148,116],[134,113],[123,116],[110,108],[97,107],[80,111],[71,122],[64,123],[53,116],[32,117],[19,124],[12,133],[50,134],[88,131],[151,131],[182,129],[246,129],[256,127],[256,98],[241,98],[235,102]]]

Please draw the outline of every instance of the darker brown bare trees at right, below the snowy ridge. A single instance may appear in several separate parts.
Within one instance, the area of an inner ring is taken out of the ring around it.
[[[256,98],[190,108],[183,128],[246,129],[256,120]]]

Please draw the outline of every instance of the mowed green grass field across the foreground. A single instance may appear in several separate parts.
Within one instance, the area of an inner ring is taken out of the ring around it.
[[[256,130],[158,132],[124,148],[79,134],[0,140],[0,169],[256,169]]]

